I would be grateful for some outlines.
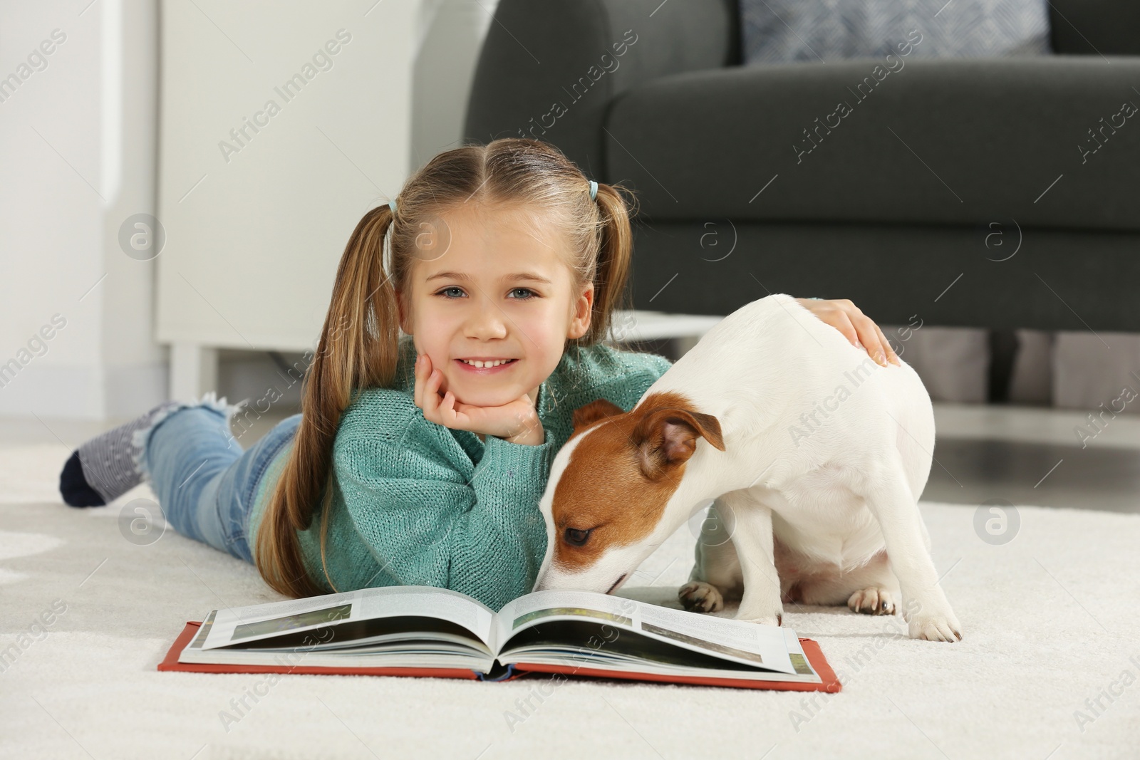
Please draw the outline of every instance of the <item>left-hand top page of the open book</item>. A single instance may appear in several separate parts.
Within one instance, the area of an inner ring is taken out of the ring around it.
[[[235,646],[282,634],[382,618],[422,616],[453,622],[490,646],[495,613],[457,591],[432,586],[386,586],[304,599],[228,607],[213,613],[203,649]],[[319,644],[315,641],[315,645]]]

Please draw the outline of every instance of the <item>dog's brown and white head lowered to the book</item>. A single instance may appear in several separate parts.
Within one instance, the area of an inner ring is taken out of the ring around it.
[[[628,412],[604,399],[577,409],[540,504],[547,542],[535,590],[609,594],[628,580],[652,553],[699,439],[724,451],[717,418],[678,393],[653,393]]]

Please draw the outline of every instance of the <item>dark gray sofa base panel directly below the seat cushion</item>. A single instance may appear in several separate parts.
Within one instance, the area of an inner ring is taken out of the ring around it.
[[[1140,234],[1010,227],[996,246],[994,231],[724,216],[635,224],[633,305],[726,314],[792,293],[852,299],[880,325],[1140,333]]]

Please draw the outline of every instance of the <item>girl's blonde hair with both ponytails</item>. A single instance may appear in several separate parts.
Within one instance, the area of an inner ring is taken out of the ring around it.
[[[627,207],[627,196],[629,207]],[[284,471],[266,506],[255,539],[258,570],[274,589],[290,596],[324,594],[308,574],[296,531],[307,530],[321,506],[320,557],[325,580],[325,537],[332,489],[332,450],[341,415],[363,389],[391,387],[399,359],[397,292],[405,293],[425,220],[474,202],[532,211],[564,232],[573,252],[568,262],[576,286],[594,284],[589,328],[572,344],[603,340],[611,313],[625,299],[633,255],[630,190],[589,181],[557,148],[523,138],[467,145],[433,157],[388,204],[364,215],[341,256],[332,303],[306,377],[301,424]],[[384,235],[391,227],[390,276],[382,265]]]

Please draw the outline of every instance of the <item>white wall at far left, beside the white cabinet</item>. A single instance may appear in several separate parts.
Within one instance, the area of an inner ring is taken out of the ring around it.
[[[165,397],[154,263],[117,242],[154,213],[156,34],[152,0],[0,1],[0,415],[120,417]]]

